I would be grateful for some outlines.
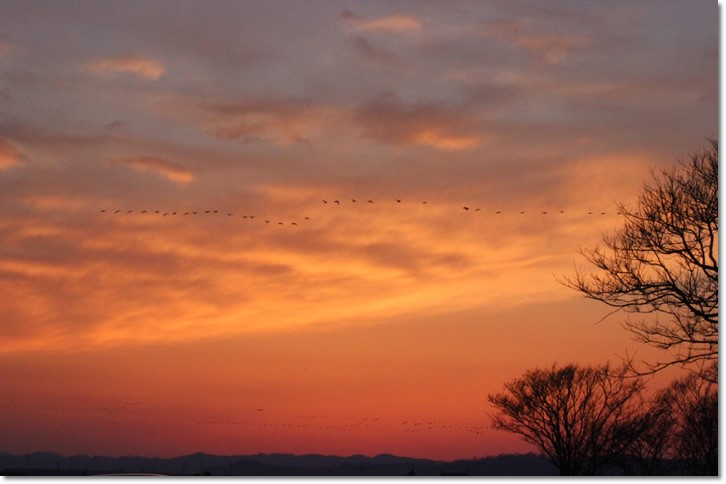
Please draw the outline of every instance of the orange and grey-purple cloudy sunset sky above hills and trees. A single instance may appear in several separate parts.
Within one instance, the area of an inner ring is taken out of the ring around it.
[[[3,0],[0,451],[534,450],[488,393],[654,354],[557,279],[718,135],[718,15]]]

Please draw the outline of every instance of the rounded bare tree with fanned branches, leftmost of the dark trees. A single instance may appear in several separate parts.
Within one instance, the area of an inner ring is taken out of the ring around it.
[[[597,475],[650,425],[643,383],[626,368],[567,365],[527,371],[489,395],[492,426],[521,435],[561,475]]]

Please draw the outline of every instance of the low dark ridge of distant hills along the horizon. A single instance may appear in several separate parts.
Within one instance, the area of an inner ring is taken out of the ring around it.
[[[197,452],[173,457],[105,457],[53,452],[0,453],[5,476],[73,476],[119,473],[213,476],[548,476],[556,469],[536,454],[506,454],[481,459],[438,461],[380,454],[254,454],[221,456]]]

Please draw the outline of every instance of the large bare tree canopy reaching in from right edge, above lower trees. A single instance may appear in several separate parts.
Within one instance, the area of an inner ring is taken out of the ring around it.
[[[564,284],[586,297],[642,317],[624,323],[666,356],[656,372],[694,365],[717,380],[718,141],[653,175],[635,208],[618,206],[624,226],[604,247],[581,251],[596,270],[578,269]],[[652,313],[646,316],[645,313]]]

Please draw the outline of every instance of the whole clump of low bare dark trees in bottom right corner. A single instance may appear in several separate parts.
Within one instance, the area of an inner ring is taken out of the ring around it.
[[[492,426],[536,445],[560,475],[718,475],[718,389],[698,374],[651,397],[626,366],[553,365],[504,388],[489,395]]]

